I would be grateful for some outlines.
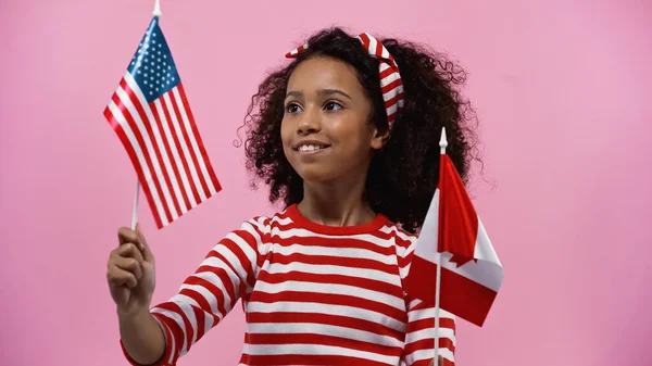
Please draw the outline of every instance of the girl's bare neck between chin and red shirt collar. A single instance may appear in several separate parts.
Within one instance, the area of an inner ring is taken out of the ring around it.
[[[299,212],[308,219],[328,226],[366,224],[376,213],[364,200],[366,176],[331,182],[303,181],[303,200]]]

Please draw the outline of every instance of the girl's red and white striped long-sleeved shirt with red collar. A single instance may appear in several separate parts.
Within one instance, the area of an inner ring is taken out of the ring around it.
[[[428,366],[435,311],[403,290],[415,244],[384,215],[333,227],[293,205],[246,222],[152,308],[166,338],[159,365],[176,364],[241,299],[240,366]],[[440,311],[439,329],[439,355],[454,365],[454,316]]]

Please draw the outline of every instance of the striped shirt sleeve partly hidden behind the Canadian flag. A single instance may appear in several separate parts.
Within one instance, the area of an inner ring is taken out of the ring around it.
[[[416,238],[406,237],[399,249],[399,266],[401,279],[410,273],[414,256]],[[435,355],[435,306],[428,307],[425,302],[412,299],[404,293],[408,307],[408,327],[401,366],[429,366]],[[455,316],[439,310],[439,349],[443,366],[455,365]],[[437,362],[435,364],[437,366]]]

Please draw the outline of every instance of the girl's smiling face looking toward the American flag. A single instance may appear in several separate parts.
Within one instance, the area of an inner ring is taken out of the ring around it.
[[[280,134],[284,152],[306,181],[366,176],[385,136],[369,121],[372,103],[355,71],[329,58],[299,64],[288,80]]]

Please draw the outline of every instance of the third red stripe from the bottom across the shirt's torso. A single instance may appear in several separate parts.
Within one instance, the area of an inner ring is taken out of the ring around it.
[[[376,335],[387,336],[397,340],[402,340],[404,333],[394,330],[385,325],[373,323],[366,319],[358,319],[349,316],[314,314],[314,313],[247,313],[247,323],[302,323],[302,324],[323,324],[336,327],[352,328],[362,331],[371,331]]]

